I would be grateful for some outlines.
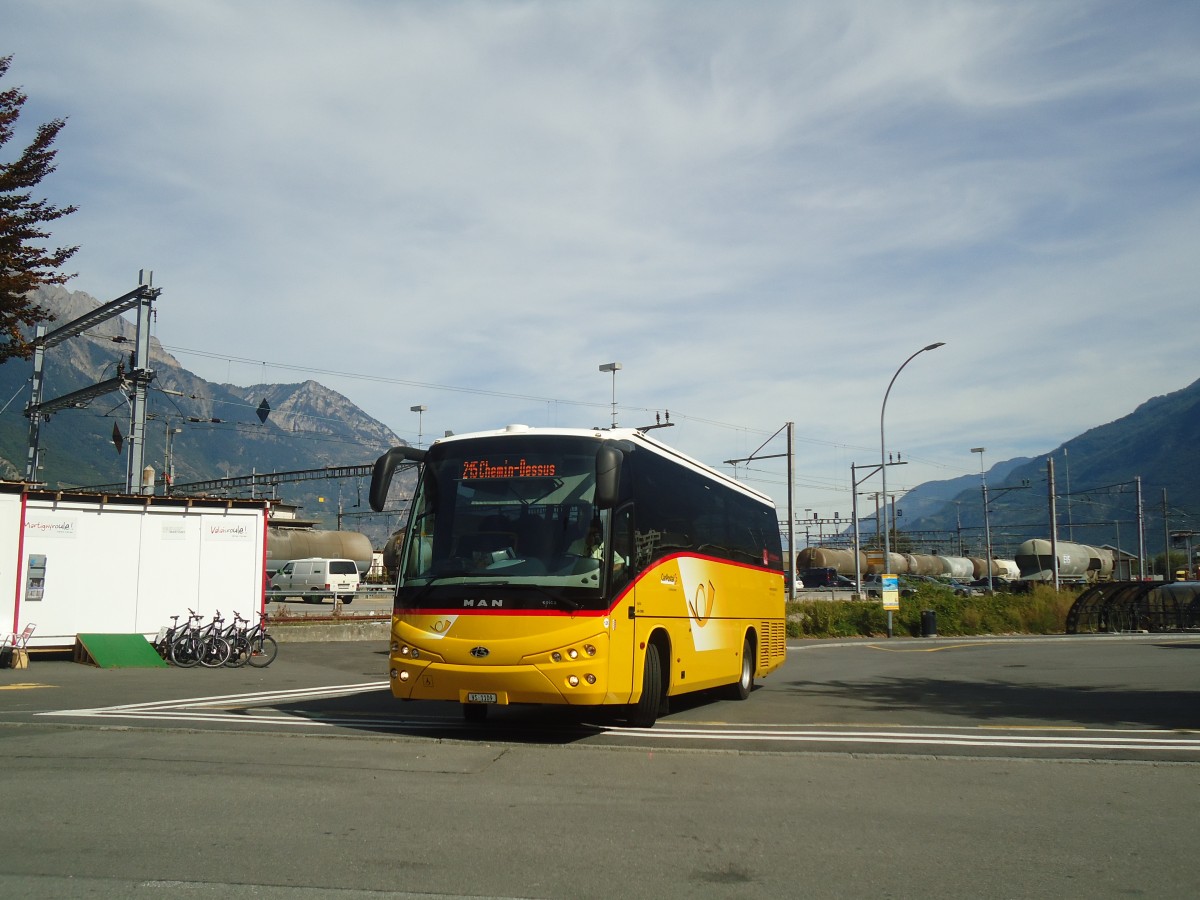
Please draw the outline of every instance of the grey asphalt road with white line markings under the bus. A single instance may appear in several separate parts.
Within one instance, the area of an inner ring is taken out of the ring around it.
[[[649,731],[266,670],[0,671],[22,896],[1194,896],[1200,638],[797,644]],[[409,892],[406,894],[404,892]]]

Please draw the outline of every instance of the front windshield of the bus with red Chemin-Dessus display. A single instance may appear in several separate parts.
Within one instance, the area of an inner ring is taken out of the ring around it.
[[[396,604],[599,608],[608,511],[593,503],[600,442],[503,436],[434,444],[413,498]]]

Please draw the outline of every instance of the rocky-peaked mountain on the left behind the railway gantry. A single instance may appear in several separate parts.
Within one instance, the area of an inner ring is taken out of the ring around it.
[[[35,301],[54,313],[52,330],[101,305],[88,294],[58,287],[41,288]],[[116,317],[48,349],[43,398],[110,378],[119,367],[127,370],[136,335],[131,322]],[[370,464],[383,451],[404,443],[317,382],[246,388],[214,384],[184,368],[157,338],[150,341],[150,367],[155,379],[148,391],[145,462],[160,473],[157,478],[169,462],[176,485],[251,473]],[[23,410],[31,372],[32,364],[23,360],[0,365],[0,402],[8,401],[0,410],[0,475],[8,479],[20,479],[25,472],[29,419]],[[260,421],[257,410],[264,400],[270,413]],[[54,413],[41,430],[43,468],[38,480],[50,487],[124,485],[127,444],[118,452],[114,426],[122,437],[128,436],[130,404],[121,394],[92,400],[85,409]],[[343,527],[367,533],[378,547],[397,521],[395,515],[362,515],[368,511],[366,488],[346,479],[323,479],[281,485],[276,496],[300,505],[302,517],[328,528],[336,527],[341,509]]]

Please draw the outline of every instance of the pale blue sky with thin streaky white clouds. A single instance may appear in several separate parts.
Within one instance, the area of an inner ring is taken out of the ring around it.
[[[0,0],[0,54],[70,289],[413,444],[616,391],[781,508],[794,422],[845,517],[1200,377],[1189,0]]]

